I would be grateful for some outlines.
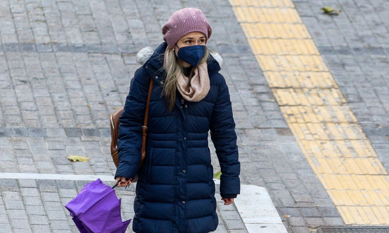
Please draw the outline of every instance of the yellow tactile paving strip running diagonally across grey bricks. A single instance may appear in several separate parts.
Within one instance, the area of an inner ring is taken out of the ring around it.
[[[345,224],[389,224],[388,174],[293,2],[230,4],[296,141]]]

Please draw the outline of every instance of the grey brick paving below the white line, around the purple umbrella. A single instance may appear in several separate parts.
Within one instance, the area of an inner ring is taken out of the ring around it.
[[[72,233],[78,232],[65,205],[89,181],[0,179],[0,232]],[[113,182],[110,184],[114,184]],[[122,219],[134,216],[133,187],[116,190],[121,198]],[[219,195],[219,194],[216,194]],[[217,200],[217,233],[247,233],[235,206]],[[221,215],[223,217],[221,217]],[[126,232],[132,232],[132,221]],[[227,230],[229,229],[229,230]]]

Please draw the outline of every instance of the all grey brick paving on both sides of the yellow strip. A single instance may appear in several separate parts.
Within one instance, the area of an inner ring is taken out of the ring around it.
[[[284,118],[280,96],[273,95],[274,86],[269,86],[263,75],[269,70],[260,66],[253,44],[247,42],[246,31],[231,7],[239,2],[0,0],[0,172],[113,175],[108,117],[124,104],[130,79],[140,66],[135,62],[136,52],[163,41],[161,26],[175,10],[197,7],[212,25],[208,47],[224,59],[221,73],[237,123],[242,184],[266,188],[290,233],[308,233],[320,225],[344,225],[315,168],[308,163],[306,151],[289,129],[290,116]],[[369,150],[377,153],[387,170],[387,2],[252,2],[262,4],[261,10],[286,4],[283,7],[291,10],[288,14],[296,12],[296,19],[302,19],[299,24],[308,30],[300,33],[312,35],[315,44],[310,46],[317,45],[352,110],[345,118],[363,127],[373,146]],[[323,15],[322,5],[343,11],[339,16]],[[281,19],[273,16],[266,20]],[[324,93],[320,91],[318,95]],[[323,96],[331,96],[326,93]],[[355,119],[350,117],[352,113]],[[217,172],[210,139],[209,145]],[[69,155],[90,160],[71,163],[65,158]],[[0,203],[0,229],[72,231],[63,205],[86,181],[31,181],[0,179],[4,203]],[[127,190],[119,195],[130,204],[133,191]],[[131,218],[132,209],[125,208],[124,217]],[[217,232],[247,232],[235,207],[219,205],[218,214],[221,224]]]

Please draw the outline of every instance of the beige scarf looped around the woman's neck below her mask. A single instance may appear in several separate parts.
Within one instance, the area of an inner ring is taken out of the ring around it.
[[[170,53],[167,54],[170,56]],[[168,56],[164,57],[164,63],[169,61]],[[176,87],[184,99],[198,102],[207,96],[210,89],[207,63],[199,64],[194,68],[193,73],[193,77],[189,80],[182,72],[179,72]]]

